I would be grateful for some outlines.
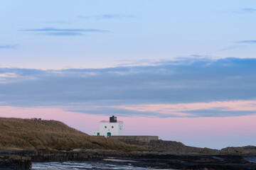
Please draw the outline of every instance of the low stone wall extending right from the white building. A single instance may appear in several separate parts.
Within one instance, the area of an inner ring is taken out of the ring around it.
[[[110,136],[114,140],[121,140],[122,142],[150,142],[151,140],[159,140],[158,136]]]

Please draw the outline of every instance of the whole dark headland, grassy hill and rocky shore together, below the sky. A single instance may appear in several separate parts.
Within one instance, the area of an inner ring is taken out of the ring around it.
[[[107,162],[155,169],[256,169],[256,147],[209,149],[151,136],[90,136],[55,120],[0,118],[0,168],[31,162]]]

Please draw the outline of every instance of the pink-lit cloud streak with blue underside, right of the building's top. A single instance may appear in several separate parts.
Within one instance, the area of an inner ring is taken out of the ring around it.
[[[256,114],[256,101],[213,101],[109,106],[127,111],[156,113],[159,117],[228,117]]]

